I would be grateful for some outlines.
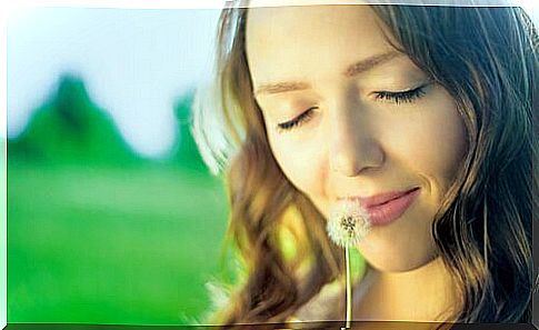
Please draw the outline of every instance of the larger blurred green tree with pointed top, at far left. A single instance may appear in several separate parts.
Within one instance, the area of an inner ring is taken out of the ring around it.
[[[69,73],[26,130],[8,141],[8,156],[47,163],[123,166],[139,160],[111,117],[90,100],[82,80]]]

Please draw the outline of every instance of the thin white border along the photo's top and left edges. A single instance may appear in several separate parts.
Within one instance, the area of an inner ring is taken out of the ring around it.
[[[0,6],[0,327],[7,324],[7,20],[21,11],[36,7],[78,7],[78,8],[122,8],[122,9],[221,9],[224,0],[18,0],[6,1]],[[353,4],[353,3],[387,3],[387,4],[423,4],[423,6],[519,6],[537,24],[539,21],[539,4],[533,0],[388,0],[388,1],[322,1],[322,0],[254,0],[250,7],[275,6],[312,6],[312,4]],[[535,318],[533,318],[535,319]],[[537,322],[537,320],[535,320]]]

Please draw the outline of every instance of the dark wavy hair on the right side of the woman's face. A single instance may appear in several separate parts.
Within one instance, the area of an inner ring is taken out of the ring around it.
[[[451,93],[467,127],[465,166],[432,228],[463,298],[458,320],[530,322],[538,187],[531,21],[509,7],[373,9],[398,48]]]

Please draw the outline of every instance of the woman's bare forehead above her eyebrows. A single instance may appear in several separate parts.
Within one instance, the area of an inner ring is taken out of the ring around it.
[[[369,6],[249,9],[246,51],[254,83],[307,79],[345,70],[393,50]]]

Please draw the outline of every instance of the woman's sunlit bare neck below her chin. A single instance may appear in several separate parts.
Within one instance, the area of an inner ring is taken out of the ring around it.
[[[441,258],[407,272],[369,268],[355,298],[353,319],[447,321],[457,307],[457,290]]]

